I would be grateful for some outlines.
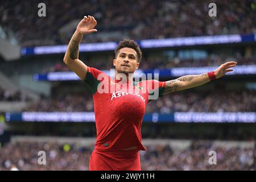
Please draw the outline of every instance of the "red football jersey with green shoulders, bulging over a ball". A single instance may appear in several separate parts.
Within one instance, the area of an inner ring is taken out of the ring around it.
[[[95,148],[114,151],[137,146],[138,150],[146,150],[141,135],[145,108],[156,91],[163,96],[165,82],[123,82],[111,79],[98,69],[87,68],[83,81],[93,94],[97,130]]]

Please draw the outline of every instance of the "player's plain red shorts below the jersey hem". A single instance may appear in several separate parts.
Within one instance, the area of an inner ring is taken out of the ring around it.
[[[90,156],[89,171],[141,171],[138,150],[98,151]]]

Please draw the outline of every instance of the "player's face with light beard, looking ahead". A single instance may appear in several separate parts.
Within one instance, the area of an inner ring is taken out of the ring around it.
[[[113,65],[117,73],[134,73],[139,67],[136,51],[132,48],[121,48],[113,60]]]

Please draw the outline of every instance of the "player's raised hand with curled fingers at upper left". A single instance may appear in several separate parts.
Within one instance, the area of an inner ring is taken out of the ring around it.
[[[96,24],[97,21],[93,16],[84,16],[84,18],[77,25],[76,30],[82,35],[92,34],[93,32],[97,32],[96,29],[93,29]]]

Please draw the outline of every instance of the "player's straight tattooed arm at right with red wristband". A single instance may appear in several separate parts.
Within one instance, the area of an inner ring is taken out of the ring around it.
[[[214,78],[220,78],[225,75],[227,72],[233,71],[232,68],[237,65],[235,61],[226,62],[220,67],[218,67],[215,71],[210,73],[203,73],[201,75],[187,75],[181,76],[175,80],[166,81],[166,86],[164,88],[164,94],[176,92],[180,90],[190,89],[196,86],[200,86],[206,84],[210,80]]]

